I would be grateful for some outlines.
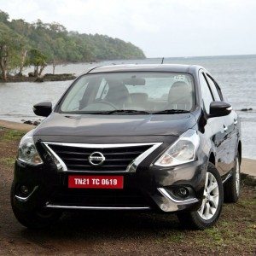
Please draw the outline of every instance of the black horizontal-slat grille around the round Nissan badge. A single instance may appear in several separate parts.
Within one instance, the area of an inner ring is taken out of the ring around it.
[[[124,172],[140,154],[143,154],[153,144],[118,148],[87,148],[48,143],[48,147],[57,154],[67,166],[68,171],[78,172]],[[89,162],[90,154],[100,152],[105,160],[101,166],[93,166]]]

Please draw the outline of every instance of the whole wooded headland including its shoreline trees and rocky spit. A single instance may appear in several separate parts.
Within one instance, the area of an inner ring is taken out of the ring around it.
[[[40,80],[47,65],[53,66],[55,75],[55,66],[61,63],[144,58],[142,49],[119,38],[68,32],[56,22],[9,20],[0,10],[0,82]],[[25,67],[33,67],[30,78],[23,75]],[[46,79],[72,78],[63,75]]]

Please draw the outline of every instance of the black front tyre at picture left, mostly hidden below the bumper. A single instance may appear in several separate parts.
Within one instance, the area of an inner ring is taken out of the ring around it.
[[[44,229],[61,218],[61,212],[49,209],[21,211],[20,208],[15,206],[14,183],[12,183],[11,187],[11,206],[15,214],[15,218],[17,218],[20,224],[32,230]]]

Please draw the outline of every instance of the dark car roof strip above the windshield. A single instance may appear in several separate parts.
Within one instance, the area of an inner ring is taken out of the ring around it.
[[[182,64],[125,64],[93,67],[88,73],[112,73],[112,72],[174,72],[193,73],[202,67],[198,65]]]

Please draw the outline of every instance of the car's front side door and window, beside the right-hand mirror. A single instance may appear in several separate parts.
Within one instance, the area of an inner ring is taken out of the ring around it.
[[[201,85],[201,98],[206,115],[210,113],[210,104],[214,101],[212,90],[207,82],[206,73],[202,70],[199,73],[200,85]],[[227,132],[224,129],[224,117],[214,117],[207,119],[207,125],[212,131],[212,143],[215,148],[215,162],[216,167],[220,175],[224,175],[228,171],[228,143]]]

